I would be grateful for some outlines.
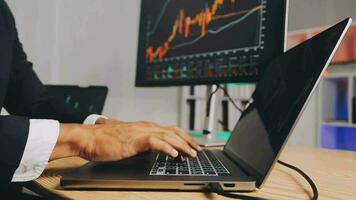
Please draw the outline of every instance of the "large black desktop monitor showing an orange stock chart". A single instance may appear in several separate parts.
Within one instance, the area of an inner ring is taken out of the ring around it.
[[[284,51],[288,0],[142,0],[136,86],[256,82]]]

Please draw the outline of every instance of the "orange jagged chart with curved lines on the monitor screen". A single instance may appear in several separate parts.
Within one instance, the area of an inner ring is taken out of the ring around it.
[[[147,22],[148,61],[262,47],[262,1],[194,1],[168,0],[157,15],[150,15]],[[250,37],[246,40],[239,34]],[[225,43],[224,38],[233,39]]]

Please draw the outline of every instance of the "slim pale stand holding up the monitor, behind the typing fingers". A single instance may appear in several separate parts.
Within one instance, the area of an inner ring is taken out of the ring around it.
[[[209,97],[216,89],[216,85],[207,86],[206,96]],[[224,146],[227,142],[227,139],[218,138],[218,95],[218,93],[212,95],[210,104],[207,105],[209,109],[207,109],[208,112],[206,113],[204,121],[204,136],[195,138],[195,141],[204,147]]]

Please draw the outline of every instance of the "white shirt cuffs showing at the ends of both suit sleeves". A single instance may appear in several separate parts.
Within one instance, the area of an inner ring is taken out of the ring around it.
[[[93,125],[101,115],[89,115],[84,124]],[[59,136],[59,122],[56,120],[30,120],[30,129],[25,150],[12,182],[26,182],[38,178],[48,164],[48,160]]]

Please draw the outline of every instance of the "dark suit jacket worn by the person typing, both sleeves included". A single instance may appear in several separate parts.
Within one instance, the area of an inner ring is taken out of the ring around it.
[[[15,20],[0,0],[0,189],[8,187],[26,145],[29,118],[82,122],[86,116],[61,113],[32,69],[19,41]]]

